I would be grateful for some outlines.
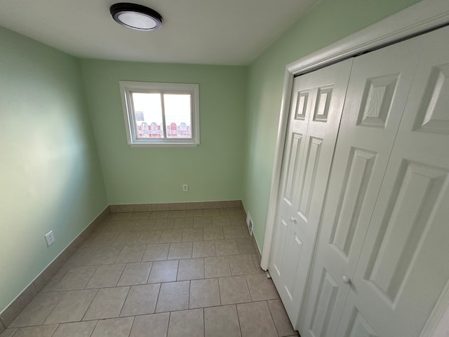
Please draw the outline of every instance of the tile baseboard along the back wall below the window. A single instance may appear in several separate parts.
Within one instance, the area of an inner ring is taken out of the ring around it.
[[[115,204],[109,206],[111,213],[184,211],[188,209],[229,209],[243,208],[241,200],[196,201],[166,204]]]

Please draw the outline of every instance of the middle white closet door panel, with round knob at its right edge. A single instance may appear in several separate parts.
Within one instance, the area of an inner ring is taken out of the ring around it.
[[[354,275],[406,107],[417,66],[410,50],[416,46],[404,41],[354,58],[300,320],[302,337],[337,331],[350,287],[345,282]]]

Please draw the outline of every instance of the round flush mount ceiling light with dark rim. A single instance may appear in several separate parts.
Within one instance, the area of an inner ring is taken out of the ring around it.
[[[109,8],[112,18],[128,28],[137,30],[156,30],[162,25],[161,14],[138,4],[121,2]]]

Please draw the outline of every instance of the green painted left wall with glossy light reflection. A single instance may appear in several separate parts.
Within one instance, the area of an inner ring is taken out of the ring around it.
[[[1,312],[107,201],[79,61],[1,27],[0,46]]]

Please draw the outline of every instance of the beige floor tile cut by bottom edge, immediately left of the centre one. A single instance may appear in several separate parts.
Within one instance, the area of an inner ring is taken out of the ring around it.
[[[204,336],[203,309],[171,312],[167,336],[168,337]]]

